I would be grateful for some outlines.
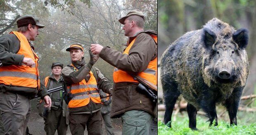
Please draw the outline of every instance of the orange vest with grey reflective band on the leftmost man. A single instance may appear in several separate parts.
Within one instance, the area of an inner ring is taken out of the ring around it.
[[[8,65],[0,68],[0,84],[9,86],[22,86],[28,88],[40,88],[40,79],[38,71],[38,56],[31,49],[26,37],[17,32],[12,31],[11,34],[16,35],[20,41],[20,48],[17,54],[24,55],[26,58],[31,58],[36,64],[32,67],[26,66],[25,64],[19,65]]]

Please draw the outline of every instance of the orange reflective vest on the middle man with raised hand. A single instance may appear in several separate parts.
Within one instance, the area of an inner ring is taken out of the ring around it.
[[[71,66],[73,66],[71,64]],[[73,66],[74,67],[74,66]],[[76,70],[76,67],[74,67]],[[69,101],[69,108],[83,107],[88,105],[90,100],[95,103],[101,103],[100,94],[98,92],[97,81],[90,71],[90,79],[88,82],[83,79],[81,82],[67,86],[73,98]]]

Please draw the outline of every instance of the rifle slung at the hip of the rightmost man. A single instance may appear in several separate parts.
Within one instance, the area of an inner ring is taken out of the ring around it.
[[[142,77],[139,77],[139,76],[136,76],[133,74],[130,74],[130,75],[140,82],[140,84],[136,87],[136,90],[139,93],[146,95],[148,98],[150,98],[152,100],[152,102],[156,103],[157,102],[157,87]]]

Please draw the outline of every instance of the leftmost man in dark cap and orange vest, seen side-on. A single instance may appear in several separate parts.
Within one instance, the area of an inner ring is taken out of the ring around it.
[[[30,99],[39,95],[45,107],[51,99],[40,83],[38,56],[29,41],[34,41],[44,25],[32,15],[17,20],[17,31],[0,37],[0,110],[5,134],[23,135],[31,113]]]

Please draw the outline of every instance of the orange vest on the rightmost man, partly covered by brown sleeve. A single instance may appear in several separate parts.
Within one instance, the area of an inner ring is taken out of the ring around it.
[[[157,36],[156,35],[150,35],[154,41],[157,43]],[[129,54],[130,48],[133,46],[133,43],[135,42],[136,37],[133,39],[132,42],[126,47],[123,54]],[[157,85],[157,57],[149,62],[149,65],[147,66],[147,69],[138,73],[140,77],[146,79],[147,81],[151,82],[154,85]],[[118,68],[114,68],[113,73],[113,80],[115,83],[118,82],[139,82],[135,80],[130,74],[123,70],[119,70]]]

